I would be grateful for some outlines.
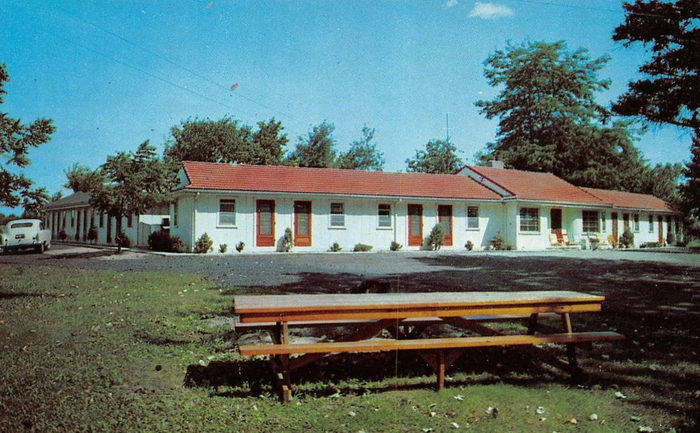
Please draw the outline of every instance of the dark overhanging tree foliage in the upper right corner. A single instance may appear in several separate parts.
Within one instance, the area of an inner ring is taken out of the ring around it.
[[[639,68],[644,75],[613,110],[653,123],[700,128],[700,3],[697,0],[636,0],[625,3],[625,23],[613,39],[624,46],[641,42],[651,59]]]

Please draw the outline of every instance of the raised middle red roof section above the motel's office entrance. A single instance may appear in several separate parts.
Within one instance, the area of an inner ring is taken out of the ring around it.
[[[470,166],[467,168],[512,192],[518,199],[595,205],[609,204],[551,173],[495,167]]]

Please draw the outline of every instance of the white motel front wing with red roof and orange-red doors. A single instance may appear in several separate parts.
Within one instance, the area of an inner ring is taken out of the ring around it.
[[[634,244],[666,243],[680,233],[680,214],[645,194],[580,188],[549,173],[466,166],[457,174],[386,173],[327,168],[184,162],[167,216],[171,235],[191,249],[207,233],[229,251],[280,249],[285,229],[295,252],[338,243],[389,250],[427,248],[442,224],[445,250],[489,249],[500,236],[516,250],[602,247],[626,228]]]

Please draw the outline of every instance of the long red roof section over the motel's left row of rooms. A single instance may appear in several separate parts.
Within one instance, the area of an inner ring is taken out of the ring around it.
[[[499,200],[467,176],[331,168],[182,163],[185,189]]]

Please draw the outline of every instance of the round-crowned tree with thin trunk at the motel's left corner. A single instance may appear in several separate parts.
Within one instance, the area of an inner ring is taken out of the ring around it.
[[[90,206],[117,220],[117,247],[121,252],[122,218],[139,215],[170,200],[176,179],[168,164],[156,156],[147,141],[136,152],[108,156],[100,170],[102,182],[90,190]]]

